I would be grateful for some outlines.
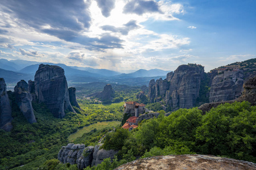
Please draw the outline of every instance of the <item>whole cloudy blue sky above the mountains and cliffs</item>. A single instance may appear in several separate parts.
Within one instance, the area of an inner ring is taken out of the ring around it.
[[[114,71],[256,56],[255,0],[2,0],[0,58]]]

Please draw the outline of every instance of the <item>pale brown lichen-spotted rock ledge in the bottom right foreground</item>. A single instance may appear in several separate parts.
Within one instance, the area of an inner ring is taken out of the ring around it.
[[[134,160],[116,168],[121,169],[256,169],[256,164],[213,155],[168,155]]]

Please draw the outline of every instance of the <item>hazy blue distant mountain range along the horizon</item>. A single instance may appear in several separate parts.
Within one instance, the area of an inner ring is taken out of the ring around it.
[[[38,70],[41,62],[26,61],[15,59],[8,61],[7,59],[0,59],[0,78],[3,77],[6,83],[15,83],[21,79],[34,80],[34,75]],[[140,86],[148,81],[150,78],[159,78],[159,76],[166,76],[170,71],[163,71],[159,69],[138,70],[134,73],[119,73],[107,69],[93,69],[90,67],[67,66],[62,63],[43,63],[48,65],[57,65],[64,69],[65,76],[68,82],[107,82],[107,83],[121,83],[129,84],[131,86]],[[134,78],[138,78],[135,80]],[[134,79],[134,81],[132,81]],[[133,82],[137,83],[133,85]]]

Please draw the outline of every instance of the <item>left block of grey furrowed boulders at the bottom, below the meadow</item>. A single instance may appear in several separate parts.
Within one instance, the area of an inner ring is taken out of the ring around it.
[[[84,169],[92,164],[93,146],[85,147],[84,144],[69,143],[61,147],[58,159],[62,163],[77,164],[77,168]]]

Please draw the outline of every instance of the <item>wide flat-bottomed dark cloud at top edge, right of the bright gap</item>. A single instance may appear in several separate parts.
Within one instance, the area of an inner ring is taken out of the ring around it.
[[[144,1],[144,0],[132,0],[126,3],[123,7],[123,13],[134,13],[137,15],[142,15],[147,12],[160,12],[159,6],[155,1]]]

